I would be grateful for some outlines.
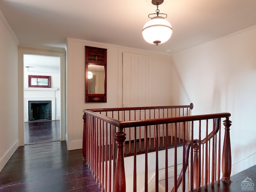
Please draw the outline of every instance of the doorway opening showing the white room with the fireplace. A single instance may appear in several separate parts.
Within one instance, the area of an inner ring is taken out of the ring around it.
[[[61,73],[59,56],[23,54],[24,145],[61,140]],[[29,76],[37,76],[30,86]],[[38,86],[50,76],[50,87]]]

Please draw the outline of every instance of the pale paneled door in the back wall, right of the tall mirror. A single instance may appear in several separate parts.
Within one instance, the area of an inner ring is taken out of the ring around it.
[[[149,56],[123,53],[123,107],[149,105]]]

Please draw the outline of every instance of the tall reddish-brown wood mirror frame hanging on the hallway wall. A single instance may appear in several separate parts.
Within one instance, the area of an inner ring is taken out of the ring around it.
[[[101,91],[98,91],[99,88],[96,85],[90,88],[92,84],[88,79],[89,65],[104,66],[101,78],[104,82],[101,83]],[[90,91],[92,89],[94,89],[93,92]],[[107,49],[85,46],[85,102],[107,102]]]

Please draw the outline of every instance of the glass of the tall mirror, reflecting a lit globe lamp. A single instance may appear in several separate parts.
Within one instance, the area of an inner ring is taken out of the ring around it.
[[[88,94],[104,94],[104,66],[88,64]]]

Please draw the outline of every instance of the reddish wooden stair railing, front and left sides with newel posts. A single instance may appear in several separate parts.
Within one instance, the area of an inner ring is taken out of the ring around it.
[[[126,191],[126,180],[125,180],[125,172],[124,172],[124,154],[125,154],[125,148],[124,148],[124,141],[126,140],[126,134],[128,134],[128,138],[130,136],[130,131],[127,132],[127,130],[134,130],[133,136],[136,140],[137,136],[140,135],[140,128],[144,128],[144,146],[145,150],[145,192],[148,191],[148,152],[149,152],[149,145],[148,143],[150,140],[146,139],[148,138],[148,135],[150,134],[150,129],[154,130],[154,146],[155,146],[155,153],[156,153],[156,183],[155,183],[155,191],[158,191],[158,151],[160,148],[165,148],[165,178],[168,179],[168,157],[170,156],[168,154],[168,136],[172,135],[174,137],[174,191],[177,191],[178,189],[178,172],[177,172],[177,146],[180,140],[182,140],[182,146],[183,146],[183,156],[185,156],[185,150],[189,150],[190,145],[186,145],[188,143],[186,140],[190,138],[190,140],[195,141],[193,142],[193,146],[195,146],[196,154],[198,156],[195,156],[195,162],[198,162],[198,169],[194,172],[204,172],[205,169],[201,168],[201,153],[203,153],[203,149],[198,147],[197,149],[197,143],[198,146],[205,145],[208,147],[210,144],[208,142],[204,143],[204,140],[201,140],[201,121],[206,120],[212,120],[215,122],[215,125],[217,122],[220,122],[220,118],[226,118],[226,121],[224,123],[225,125],[225,136],[224,136],[224,146],[223,146],[223,155],[222,155],[222,163],[225,164],[225,166],[222,166],[222,173],[223,177],[222,180],[224,182],[230,182],[230,173],[231,173],[231,154],[230,154],[230,136],[229,136],[229,127],[231,125],[231,121],[228,120],[230,117],[229,113],[220,113],[220,114],[208,114],[208,115],[198,115],[198,116],[173,116],[171,118],[153,118],[153,119],[144,119],[144,120],[124,120],[124,118],[120,118],[119,116],[124,116],[124,113],[120,113],[120,111],[123,111],[122,108],[115,108],[113,109],[102,109],[107,111],[105,114],[101,114],[100,110],[94,112],[93,110],[84,110],[84,138],[83,138],[83,156],[84,161],[86,164],[91,168],[92,174],[94,175],[94,178],[96,182],[98,182],[99,187],[101,187],[102,192],[125,192]],[[132,109],[130,109],[132,110]],[[136,109],[138,110],[138,109]],[[95,110],[96,111],[96,110]],[[118,111],[118,114],[114,114],[115,111]],[[139,112],[140,114],[141,112]],[[188,114],[188,113],[187,113]],[[199,122],[199,133],[197,136],[198,140],[194,140],[196,138],[196,134],[194,133],[194,125],[196,122]],[[219,124],[219,123],[218,123]],[[208,126],[208,125],[207,125]],[[206,126],[206,133],[208,133],[208,127]],[[216,134],[213,134],[216,132],[216,127],[213,126],[212,135],[206,134],[206,141],[208,141],[208,138],[212,138],[214,140],[213,148],[215,145],[217,145],[217,136]],[[171,131],[169,130],[171,128]],[[188,130],[190,135],[188,136]],[[160,132],[162,130],[162,132]],[[203,128],[202,128],[203,130]],[[210,128],[209,128],[210,130]],[[182,131],[182,136],[179,135],[180,131]],[[173,133],[174,132],[174,133]],[[217,131],[218,132],[218,131]],[[162,137],[161,143],[163,143],[163,147],[161,147],[160,139],[162,136],[166,136],[165,138]],[[178,138],[178,136],[182,138]],[[220,131],[219,136],[220,138]],[[134,142],[135,142],[134,140]],[[130,142],[130,141],[129,141]],[[195,144],[195,145],[194,145]],[[129,148],[130,147],[129,143]],[[218,150],[215,147],[214,150],[212,150],[209,147],[208,155],[209,157],[205,158],[212,158],[215,162],[218,162],[218,173],[219,166],[220,166],[220,140],[218,140]],[[139,148],[141,146],[139,145]],[[136,192],[136,155],[137,155],[137,146],[136,144],[133,145],[133,153],[134,153],[134,179],[133,179],[133,191]],[[187,148],[187,149],[186,149]],[[117,151],[116,151],[117,150]],[[129,149],[130,150],[130,149]],[[217,155],[214,156],[210,155],[210,150],[218,151],[218,157]],[[141,152],[139,152],[141,153]],[[189,153],[188,153],[189,154]],[[202,156],[204,157],[204,156]],[[170,158],[170,157],[169,157]],[[196,158],[198,160],[196,160]],[[216,159],[217,158],[217,159]],[[161,157],[161,159],[164,159]],[[216,159],[216,160],[215,160]],[[112,162],[111,162],[112,160]],[[186,162],[187,161],[187,162]],[[183,158],[183,165],[188,164],[189,160],[185,160]],[[198,186],[201,186],[201,179],[197,179],[196,182],[193,179],[193,153],[192,150],[190,152],[190,174],[192,178],[192,182],[190,182],[190,188],[199,188]],[[202,161],[203,162],[203,161]],[[211,160],[209,160],[211,162]],[[226,164],[228,166],[226,166]],[[210,163],[207,165],[207,168],[210,166]],[[216,165],[215,165],[216,166]],[[205,166],[202,166],[205,167]],[[182,170],[185,173],[186,166],[183,166]],[[214,170],[216,168],[214,167]],[[189,171],[188,171],[189,172]],[[208,174],[208,173],[207,173]],[[194,176],[194,177],[199,177]],[[202,176],[202,174],[200,175]],[[185,174],[182,176],[182,180],[185,180]],[[213,173],[213,180],[216,177],[216,172]],[[207,178],[207,180],[210,178],[210,176]],[[219,178],[219,176],[218,176]],[[181,181],[182,181],[181,180]],[[194,184],[195,183],[195,184]],[[168,183],[165,184],[167,187],[165,188],[165,191],[168,191]],[[183,189],[185,190],[185,182],[182,183]],[[182,190],[182,191],[184,191]]]

